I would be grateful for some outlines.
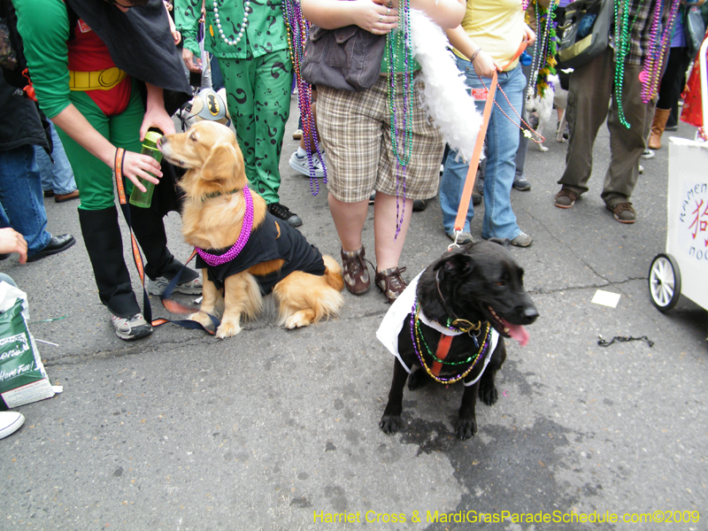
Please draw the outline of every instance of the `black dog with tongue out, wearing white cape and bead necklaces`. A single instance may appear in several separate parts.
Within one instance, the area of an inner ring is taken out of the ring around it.
[[[387,434],[396,433],[402,425],[404,385],[413,366],[419,368],[411,373],[409,389],[418,389],[428,378],[441,383],[465,382],[455,431],[463,440],[477,432],[477,394],[485,404],[496,402],[494,377],[506,358],[504,337],[526,345],[528,334],[522,325],[531,324],[538,317],[524,289],[524,270],[507,247],[508,240],[491,239],[450,250],[421,273],[415,305],[410,299],[401,299],[409,313],[397,335],[398,355],[389,404],[379,422]],[[401,310],[399,306],[398,311]],[[377,334],[389,350],[395,349],[391,342],[396,342],[396,338],[387,343],[381,332],[384,328],[397,332],[398,328],[391,326],[390,320],[387,322],[392,312],[394,307]],[[400,319],[398,323],[400,327]],[[435,324],[439,325],[437,329]],[[453,335],[450,342],[450,335],[438,331],[442,329],[458,335]],[[494,336],[498,337],[496,348]]]

